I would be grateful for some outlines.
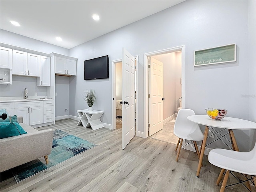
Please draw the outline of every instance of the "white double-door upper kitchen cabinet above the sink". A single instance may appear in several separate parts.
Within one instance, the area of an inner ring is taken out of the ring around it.
[[[40,76],[40,55],[23,51],[12,51],[12,74],[22,76]]]

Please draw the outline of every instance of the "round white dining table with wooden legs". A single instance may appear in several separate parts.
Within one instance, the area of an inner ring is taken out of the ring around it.
[[[252,130],[256,129],[256,123],[248,120],[243,120],[239,118],[232,118],[232,117],[224,117],[222,120],[212,120],[208,115],[192,115],[187,117],[188,120],[205,125],[205,131],[204,131],[204,140],[202,142],[202,146],[200,148],[200,159],[198,163],[198,169],[196,172],[196,176],[199,177],[203,156],[204,156],[204,150],[206,146],[206,140],[208,136],[209,126],[210,127],[217,127],[217,128],[224,128],[228,129],[231,144],[233,147],[233,150],[239,151],[238,145],[236,143],[236,138],[234,136],[234,132],[232,129],[237,130]]]

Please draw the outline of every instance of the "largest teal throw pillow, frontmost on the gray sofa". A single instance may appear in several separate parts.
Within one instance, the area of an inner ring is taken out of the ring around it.
[[[26,134],[27,132],[18,123],[0,122],[0,138],[7,138]]]

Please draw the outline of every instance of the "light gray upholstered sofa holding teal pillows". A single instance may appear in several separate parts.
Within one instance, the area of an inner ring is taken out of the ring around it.
[[[38,131],[24,124],[22,117],[18,117],[18,121],[27,134],[0,139],[0,172],[43,156],[48,164],[53,130]]]

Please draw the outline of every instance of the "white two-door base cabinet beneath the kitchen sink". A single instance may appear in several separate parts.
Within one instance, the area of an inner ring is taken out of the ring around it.
[[[44,123],[43,101],[14,102],[14,114],[23,117],[23,122],[28,125]]]

